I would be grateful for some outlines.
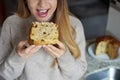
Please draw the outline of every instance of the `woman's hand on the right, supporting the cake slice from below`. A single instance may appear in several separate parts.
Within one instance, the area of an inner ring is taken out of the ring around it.
[[[45,51],[47,51],[54,58],[61,57],[67,50],[66,46],[60,41],[57,42],[57,47],[54,45],[44,45],[43,47],[45,48]]]

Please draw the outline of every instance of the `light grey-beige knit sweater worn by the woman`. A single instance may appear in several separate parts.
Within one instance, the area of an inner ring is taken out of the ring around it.
[[[53,58],[41,48],[29,59],[23,60],[15,51],[21,40],[28,39],[32,17],[21,19],[17,15],[8,17],[0,37],[0,75],[5,80],[79,80],[86,72],[85,36],[81,22],[70,16],[77,36],[76,42],[81,57],[75,60],[69,50],[60,58],[58,65],[51,67]]]

